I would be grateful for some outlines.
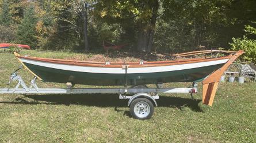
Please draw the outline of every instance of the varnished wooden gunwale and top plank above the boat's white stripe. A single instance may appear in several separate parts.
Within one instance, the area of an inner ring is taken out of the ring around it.
[[[226,57],[220,58],[196,58],[196,59],[185,59],[185,60],[176,60],[176,61],[153,61],[153,62],[144,62],[143,65],[139,65],[139,62],[128,62],[126,65],[128,67],[154,67],[154,66],[170,66],[170,65],[182,65],[187,63],[197,63],[197,62],[208,62],[208,61],[217,61],[220,59],[229,59],[232,55],[227,55]],[[111,62],[110,65],[105,65],[105,62],[85,62],[85,61],[71,61],[65,59],[50,59],[50,58],[37,58],[37,57],[25,57],[16,55],[18,58],[32,59],[35,61],[41,62],[51,62],[59,63],[64,65],[76,65],[76,66],[91,66],[91,67],[123,67],[124,62]]]

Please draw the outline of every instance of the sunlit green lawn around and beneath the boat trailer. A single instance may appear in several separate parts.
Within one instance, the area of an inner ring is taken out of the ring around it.
[[[26,50],[66,58],[77,53]],[[0,51],[0,88],[20,64]],[[24,80],[32,75],[22,69]],[[16,84],[16,83],[15,83]],[[14,83],[10,85],[13,87]],[[39,87],[64,87],[38,82]],[[86,87],[78,85],[79,87]],[[167,84],[186,87],[190,83]],[[201,84],[189,94],[160,94],[151,120],[135,120],[116,94],[0,95],[0,142],[255,142],[256,85],[223,82],[212,107],[202,105]]]

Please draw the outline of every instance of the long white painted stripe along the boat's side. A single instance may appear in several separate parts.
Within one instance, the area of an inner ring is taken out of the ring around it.
[[[65,65],[60,63],[35,61],[32,59],[20,58],[24,63],[30,63],[32,65],[50,67],[53,69],[69,70],[74,72],[86,72],[86,73],[108,73],[108,74],[125,74],[125,69],[116,67],[91,67],[91,66],[77,66],[77,65]],[[131,67],[127,69],[128,74],[133,73],[156,73],[156,72],[170,72],[175,70],[194,69],[197,67],[218,65],[226,63],[228,59],[220,59],[217,61],[186,63],[182,65],[170,65],[170,66],[154,66],[154,67]]]

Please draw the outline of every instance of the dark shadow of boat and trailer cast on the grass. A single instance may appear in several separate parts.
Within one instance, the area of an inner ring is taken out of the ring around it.
[[[47,94],[47,95],[25,95],[26,98],[16,98],[14,102],[0,102],[3,104],[49,104],[49,105],[85,105],[98,107],[115,107],[116,112],[120,112],[117,107],[127,107],[128,100],[120,100],[116,94]],[[158,106],[177,108],[182,110],[188,107],[194,112],[202,112],[198,106],[201,100],[191,98],[160,96],[156,100]]]

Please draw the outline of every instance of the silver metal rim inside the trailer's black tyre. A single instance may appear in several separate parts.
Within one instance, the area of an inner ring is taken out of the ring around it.
[[[150,114],[150,105],[144,101],[137,102],[134,106],[134,113],[139,118],[145,118]]]

